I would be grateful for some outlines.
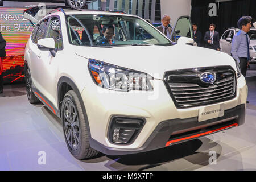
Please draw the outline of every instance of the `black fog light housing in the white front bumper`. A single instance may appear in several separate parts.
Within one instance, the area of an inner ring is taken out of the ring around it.
[[[108,139],[113,144],[131,144],[144,126],[143,118],[112,117]]]

